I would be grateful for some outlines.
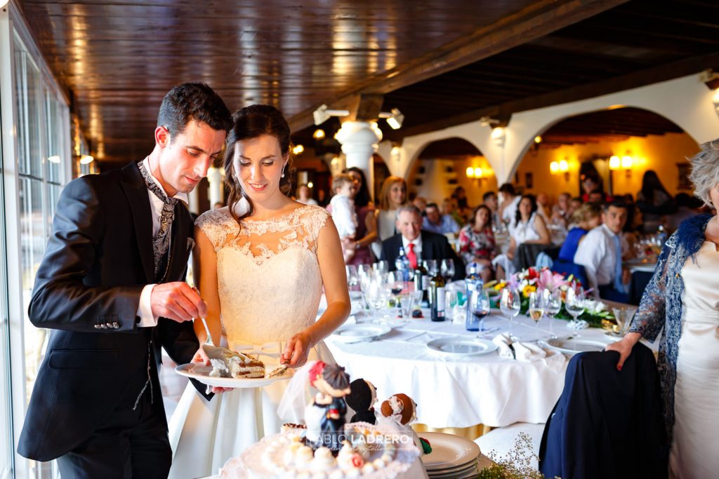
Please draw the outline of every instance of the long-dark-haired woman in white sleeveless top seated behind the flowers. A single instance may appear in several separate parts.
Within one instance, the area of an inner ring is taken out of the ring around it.
[[[492,261],[497,269],[498,278],[504,279],[514,273],[512,260],[519,245],[551,243],[551,236],[549,236],[544,219],[536,211],[537,202],[534,195],[523,195],[517,206],[514,220],[509,225],[509,249],[505,254],[500,254]]]

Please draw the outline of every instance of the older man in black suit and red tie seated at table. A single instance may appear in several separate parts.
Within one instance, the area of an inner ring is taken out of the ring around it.
[[[397,233],[395,236],[385,239],[382,242],[382,254],[380,259],[388,261],[390,271],[394,271],[395,260],[399,256],[400,248],[404,248],[405,254],[410,260],[413,268],[416,268],[420,261],[426,259],[454,260],[453,281],[464,278],[464,261],[454,253],[452,246],[449,246],[446,236],[423,231],[422,215],[414,205],[405,205],[397,210],[397,222],[395,224]]]

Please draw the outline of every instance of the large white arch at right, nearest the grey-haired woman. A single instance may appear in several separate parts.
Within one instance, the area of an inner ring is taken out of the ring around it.
[[[534,137],[569,116],[606,110],[615,106],[633,106],[653,111],[673,121],[697,143],[719,136],[719,116],[712,101],[713,91],[700,80],[700,75],[668,80],[587,100],[515,113],[508,124],[511,136],[505,142],[505,167],[509,178],[518,167]],[[495,170],[499,172],[500,170]]]

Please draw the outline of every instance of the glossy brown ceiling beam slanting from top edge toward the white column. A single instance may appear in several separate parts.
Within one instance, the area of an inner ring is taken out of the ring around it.
[[[540,0],[508,15],[495,24],[481,27],[442,47],[368,78],[357,88],[324,103],[330,108],[345,108],[358,93],[390,93],[421,80],[460,68],[509,50],[532,39],[543,37],[567,25],[580,22],[625,3],[627,0]],[[319,106],[319,105],[317,105]],[[297,131],[313,123],[316,106],[289,118],[290,129]]]

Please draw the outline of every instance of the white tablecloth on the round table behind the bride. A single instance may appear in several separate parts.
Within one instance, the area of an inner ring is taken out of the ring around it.
[[[541,338],[549,338],[549,321],[544,318],[540,322]],[[555,334],[571,333],[567,321],[551,321]],[[449,335],[472,337],[477,332],[427,318],[390,319],[388,323],[396,327],[380,340],[347,344],[330,337],[326,344],[352,380],[365,378],[375,384],[379,401],[398,393],[411,396],[418,404],[417,422],[421,424],[503,427],[515,422],[543,423],[562,394],[567,359],[560,353],[531,363],[500,358],[496,352],[447,359],[432,353],[426,343]],[[508,325],[499,314],[488,316],[485,326],[500,330],[485,339],[508,330]],[[534,324],[528,317],[517,317],[513,333],[521,340],[533,340]],[[584,330],[582,337],[613,342],[599,329]]]

